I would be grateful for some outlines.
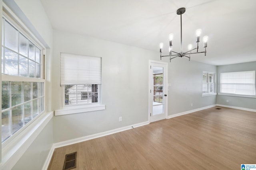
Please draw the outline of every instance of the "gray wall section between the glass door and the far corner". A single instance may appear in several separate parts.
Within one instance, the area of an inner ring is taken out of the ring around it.
[[[193,57],[196,55],[191,56]],[[169,63],[168,69],[168,115],[216,104],[216,96],[202,97],[203,71],[216,73],[216,66],[188,61],[186,58],[175,58]]]

